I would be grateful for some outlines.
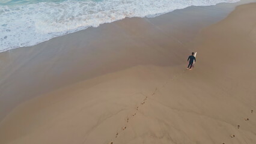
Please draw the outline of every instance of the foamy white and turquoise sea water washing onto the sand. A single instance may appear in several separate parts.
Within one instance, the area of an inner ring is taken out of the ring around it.
[[[0,52],[125,17],[239,0],[0,0]]]

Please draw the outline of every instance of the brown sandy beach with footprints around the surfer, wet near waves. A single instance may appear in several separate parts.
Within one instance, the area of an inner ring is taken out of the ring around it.
[[[256,143],[249,2],[126,18],[0,53],[0,143]]]

